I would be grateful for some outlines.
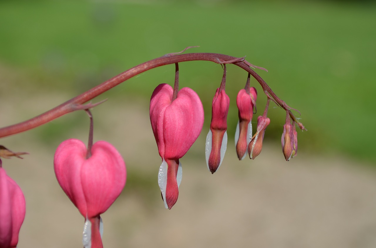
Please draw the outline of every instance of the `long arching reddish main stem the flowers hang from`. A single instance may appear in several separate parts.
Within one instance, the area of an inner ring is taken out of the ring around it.
[[[5,136],[12,135],[12,134],[21,133],[23,131],[30,130],[32,128],[38,127],[39,125],[48,123],[58,117],[61,117],[64,114],[73,112],[79,109],[77,108],[77,106],[82,105],[85,102],[88,102],[89,100],[93,99],[94,97],[99,96],[105,91],[108,91],[109,89],[115,87],[121,82],[124,82],[127,79],[132,78],[133,76],[136,76],[140,73],[146,72],[147,70],[150,70],[159,66],[164,66],[167,64],[175,64],[175,63],[184,62],[184,61],[196,61],[196,60],[212,61],[218,64],[231,62],[232,64],[235,64],[236,66],[239,66],[240,68],[246,70],[259,82],[264,92],[270,94],[271,97],[273,97],[274,100],[283,109],[289,111],[291,118],[297,122],[296,118],[289,110],[291,108],[284,101],[279,99],[279,97],[277,97],[276,94],[274,94],[274,92],[265,83],[265,81],[254,70],[252,70],[249,67],[251,64],[248,61],[244,60],[243,58],[240,59],[240,58],[236,58],[236,57],[232,57],[232,56],[224,55],[224,54],[200,52],[200,53],[188,53],[188,54],[167,54],[162,57],[155,58],[153,60],[149,60],[147,62],[139,64],[138,66],[135,66],[129,70],[126,70],[123,73],[120,73],[117,76],[114,76],[113,78],[103,82],[102,84],[97,85],[96,87],[80,94],[79,96],[74,97],[71,100],[68,100],[65,103],[62,103],[61,105],[47,112],[44,112],[41,115],[38,115],[30,120],[27,120],[18,124],[1,128],[0,137],[5,137]],[[304,128],[303,125],[301,124],[299,125],[299,127],[301,129]]]

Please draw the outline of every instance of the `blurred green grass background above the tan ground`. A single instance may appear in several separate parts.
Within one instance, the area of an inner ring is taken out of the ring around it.
[[[23,76],[1,84],[73,97],[136,64],[199,45],[188,52],[247,56],[269,70],[256,72],[302,113],[308,132],[298,134],[300,150],[375,162],[375,10],[372,1],[0,1],[0,63],[4,73]],[[236,94],[247,75],[236,66],[227,71],[232,133]],[[143,73],[105,97],[147,101],[156,85],[173,83],[173,72],[165,66]],[[206,124],[221,73],[210,62],[180,64],[181,87],[197,91]],[[265,97],[255,80],[253,85],[262,112]],[[271,109],[265,139],[278,142],[284,115]],[[66,122],[70,126],[72,120]],[[54,129],[41,127],[38,137],[50,142],[51,133],[62,134]]]

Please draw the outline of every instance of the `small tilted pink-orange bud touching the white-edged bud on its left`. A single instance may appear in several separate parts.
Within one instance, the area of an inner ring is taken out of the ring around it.
[[[257,118],[257,131],[253,135],[251,142],[248,146],[249,157],[255,159],[262,149],[262,141],[264,140],[265,129],[270,124],[270,119],[260,115]]]

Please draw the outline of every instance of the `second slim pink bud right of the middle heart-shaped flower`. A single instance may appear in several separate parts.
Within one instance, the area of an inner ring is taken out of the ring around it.
[[[256,98],[256,88],[251,87],[250,93],[241,89],[236,99],[239,109],[239,121],[235,131],[235,146],[239,160],[243,160],[246,157],[247,148],[252,139],[252,117]]]

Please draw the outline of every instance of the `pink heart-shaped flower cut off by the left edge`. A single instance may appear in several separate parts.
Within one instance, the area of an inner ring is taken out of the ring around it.
[[[0,160],[0,248],[13,248],[25,218],[25,197]]]

